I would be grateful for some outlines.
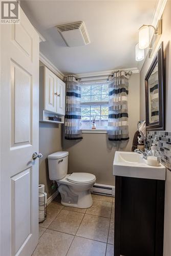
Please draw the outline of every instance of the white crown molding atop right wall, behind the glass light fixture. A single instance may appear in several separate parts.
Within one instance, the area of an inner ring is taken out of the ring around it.
[[[151,22],[151,25],[153,25],[155,28],[157,26],[158,20],[162,18],[163,11],[164,11],[164,8],[166,6],[166,3],[167,3],[167,0],[157,0],[155,10],[154,10],[154,13],[153,13],[153,17],[152,17],[152,22]],[[141,71],[142,66],[145,62],[145,59],[148,55],[148,49],[145,49],[145,54],[144,55],[145,55],[144,59],[142,61],[139,61],[138,64],[137,64],[137,68],[138,68],[139,71]]]

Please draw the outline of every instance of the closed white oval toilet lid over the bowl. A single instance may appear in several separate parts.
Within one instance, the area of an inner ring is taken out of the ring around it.
[[[91,181],[94,181],[95,179],[95,175],[88,173],[72,173],[68,177],[68,180],[74,183],[89,183]]]

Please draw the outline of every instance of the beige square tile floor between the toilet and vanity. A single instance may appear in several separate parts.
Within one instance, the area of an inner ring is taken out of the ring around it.
[[[88,209],[65,207],[55,198],[32,256],[114,256],[114,198],[92,197]]]

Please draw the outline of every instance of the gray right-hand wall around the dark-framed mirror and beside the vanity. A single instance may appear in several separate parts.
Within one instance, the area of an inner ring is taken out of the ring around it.
[[[163,41],[164,44],[164,59],[165,59],[165,83],[166,83],[166,131],[171,131],[171,1],[167,1],[163,12],[162,20],[162,35],[156,51]],[[153,61],[156,51],[151,59],[146,58],[143,68],[140,72],[140,118],[145,119],[145,86],[144,78]],[[166,186],[165,186],[165,223],[164,223],[164,256],[171,255],[171,172],[166,171]]]

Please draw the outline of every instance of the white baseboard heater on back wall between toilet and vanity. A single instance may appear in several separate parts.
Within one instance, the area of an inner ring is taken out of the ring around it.
[[[91,193],[115,197],[115,186],[95,183],[91,188]]]

